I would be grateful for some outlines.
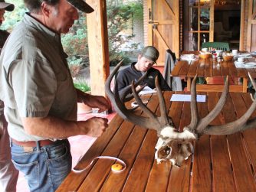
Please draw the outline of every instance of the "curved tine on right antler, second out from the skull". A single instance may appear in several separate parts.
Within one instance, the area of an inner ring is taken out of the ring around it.
[[[212,109],[211,112],[208,113],[207,116],[205,116],[203,119],[201,119],[199,121],[199,124],[196,127],[197,132],[202,132],[203,129],[205,129],[205,127],[212,122],[213,119],[215,119],[216,116],[218,116],[218,113],[220,113],[222,111],[222,108],[225,104],[225,101],[228,97],[228,76],[226,77],[225,80],[225,86],[224,86],[224,90],[222,92],[222,96],[221,98],[218,100],[218,103],[216,104],[215,108]]]

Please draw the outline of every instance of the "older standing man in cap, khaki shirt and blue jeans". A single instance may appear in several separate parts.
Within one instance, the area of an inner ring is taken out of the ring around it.
[[[0,99],[15,168],[31,191],[54,191],[71,171],[67,140],[74,135],[99,137],[107,119],[77,122],[77,102],[107,110],[103,96],[74,88],[61,34],[78,19],[77,9],[94,11],[83,0],[24,0],[29,12],[11,32],[0,57]]]

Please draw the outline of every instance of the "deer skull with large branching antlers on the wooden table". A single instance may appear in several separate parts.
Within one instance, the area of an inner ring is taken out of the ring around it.
[[[218,100],[215,108],[212,109],[212,111],[202,119],[199,119],[196,105],[195,80],[197,76],[194,77],[191,86],[190,105],[192,117],[190,124],[183,128],[183,132],[176,131],[177,129],[174,127],[172,119],[167,115],[168,112],[166,110],[166,103],[163,99],[162,91],[159,87],[158,78],[156,78],[156,90],[159,97],[161,116],[156,116],[150,109],[146,107],[145,104],[143,104],[135,89],[137,84],[132,83],[131,86],[129,86],[130,88],[127,89],[126,93],[129,93],[129,89],[133,91],[133,96],[136,99],[136,103],[138,103],[139,107],[143,110],[143,112],[146,113],[146,116],[148,117],[136,116],[134,112],[132,112],[130,109],[126,109],[126,106],[124,106],[125,96],[122,96],[122,99],[120,99],[117,91],[117,81],[115,83],[114,92],[112,92],[110,89],[110,82],[113,79],[115,73],[117,73],[117,70],[120,68],[121,64],[122,61],[117,64],[117,67],[115,67],[113,72],[107,78],[107,96],[109,96],[113,106],[117,110],[117,113],[123,117],[123,119],[127,119],[128,121],[133,122],[135,125],[140,125],[147,129],[155,129],[157,131],[159,137],[155,147],[155,158],[157,163],[160,163],[161,161],[171,161],[172,164],[181,166],[182,161],[189,158],[189,155],[192,154],[192,142],[197,140],[200,135],[228,135],[241,131],[242,129],[250,129],[256,126],[256,120],[247,122],[248,118],[251,116],[251,113],[254,112],[254,109],[256,108],[256,99],[254,103],[252,103],[250,109],[248,109],[248,112],[246,112],[244,116],[235,122],[230,122],[226,125],[208,125],[210,122],[212,122],[213,119],[215,119],[216,116],[218,116],[218,113],[222,111],[222,108],[225,104],[225,100],[228,96],[228,77],[225,81],[222,96]],[[250,79],[253,85],[256,86],[251,76]]]

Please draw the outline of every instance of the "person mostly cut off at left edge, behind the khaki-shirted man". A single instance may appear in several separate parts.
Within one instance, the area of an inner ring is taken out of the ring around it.
[[[5,11],[13,11],[15,5],[0,0],[0,25],[5,21]],[[8,31],[0,30],[0,53],[8,38]],[[16,191],[18,170],[11,162],[11,148],[4,116],[4,103],[0,100],[0,191]]]

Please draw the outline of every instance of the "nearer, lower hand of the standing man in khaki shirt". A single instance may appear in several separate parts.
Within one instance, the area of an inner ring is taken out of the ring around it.
[[[101,117],[93,117],[84,122],[77,122],[84,135],[100,137],[106,131],[108,120]]]

